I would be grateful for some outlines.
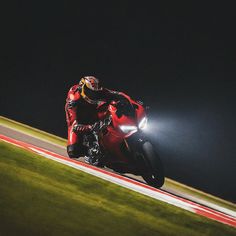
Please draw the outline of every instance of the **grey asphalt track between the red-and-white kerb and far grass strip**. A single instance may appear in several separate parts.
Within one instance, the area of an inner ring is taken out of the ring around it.
[[[56,154],[58,154],[62,157],[67,157],[65,147],[62,147],[62,146],[54,144],[54,143],[50,143],[50,142],[45,141],[45,140],[41,140],[41,139],[36,138],[36,137],[32,137],[30,135],[27,135],[27,134],[24,134],[22,132],[16,131],[14,129],[11,129],[11,128],[0,125],[0,134],[5,135],[9,138],[13,138],[14,140],[22,141],[24,143],[34,145],[38,148],[42,148],[42,150],[48,150],[48,151],[56,153]],[[83,159],[80,158],[80,161],[83,162]],[[109,169],[106,169],[106,172],[107,171],[110,172],[111,174],[113,173],[113,171],[111,171]],[[141,177],[134,176],[134,175],[128,175],[128,177],[131,178],[131,182],[132,182],[132,179],[134,179],[134,180],[138,180],[140,182],[140,185],[142,185],[142,183],[145,183],[145,181]],[[122,179],[121,175],[120,175],[120,178]],[[233,218],[235,219],[236,213],[233,212],[233,211],[230,211],[230,210],[227,210],[227,209],[222,208],[220,206],[217,206],[215,204],[209,203],[205,200],[203,201],[203,200],[197,199],[196,197],[190,196],[188,194],[183,194],[183,193],[180,193],[180,192],[178,192],[176,190],[173,190],[173,189],[167,189],[165,186],[162,187],[162,190],[167,195],[171,194],[173,196],[181,197],[181,198],[185,199],[186,201],[190,200],[193,203],[201,204],[203,206],[209,207],[209,209],[214,209],[214,210],[218,211],[219,213],[222,212],[222,213],[225,213],[229,216],[233,216]],[[234,221],[236,222],[236,220],[234,220]],[[234,226],[235,226],[235,222],[233,223]]]

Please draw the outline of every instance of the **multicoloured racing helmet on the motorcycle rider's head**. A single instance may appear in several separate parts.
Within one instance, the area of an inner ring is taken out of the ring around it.
[[[81,96],[91,104],[97,104],[101,101],[101,91],[99,79],[94,76],[84,76],[79,82]]]

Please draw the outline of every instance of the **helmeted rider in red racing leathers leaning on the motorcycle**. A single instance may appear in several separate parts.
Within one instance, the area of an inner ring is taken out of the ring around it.
[[[87,163],[98,165],[91,153],[99,151],[97,136],[92,131],[101,125],[99,121],[106,111],[102,109],[103,105],[111,101],[125,100],[126,96],[122,92],[101,87],[99,80],[94,76],[84,76],[78,84],[70,88],[65,105],[68,126],[67,153],[70,158],[85,156]],[[91,148],[83,143],[85,134],[92,137]]]

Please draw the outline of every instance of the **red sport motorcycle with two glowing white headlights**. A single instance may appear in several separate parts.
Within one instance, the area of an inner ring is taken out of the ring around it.
[[[100,162],[118,173],[140,175],[149,185],[160,188],[164,184],[164,170],[144,134],[146,109],[141,102],[124,97],[122,101],[100,106],[100,115],[104,118],[99,130],[94,131],[100,145]]]

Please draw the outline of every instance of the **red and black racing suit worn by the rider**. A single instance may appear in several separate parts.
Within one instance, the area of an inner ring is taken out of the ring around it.
[[[127,95],[122,92],[103,88],[99,91],[98,102],[91,104],[81,96],[79,84],[70,88],[65,104],[68,126],[67,153],[70,158],[85,155],[86,149],[82,143],[83,135],[91,131],[95,122],[105,117],[107,107],[104,104],[109,104],[113,100],[122,100],[125,96]]]

